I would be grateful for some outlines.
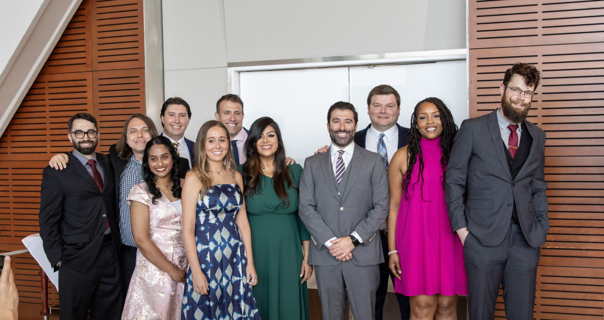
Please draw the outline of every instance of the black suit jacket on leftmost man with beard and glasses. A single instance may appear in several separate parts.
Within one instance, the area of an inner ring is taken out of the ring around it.
[[[106,156],[97,153],[103,167],[103,192],[86,168],[72,154],[62,171],[47,166],[40,184],[40,237],[56,267],[86,272],[103,242],[106,221],[111,227],[116,259],[120,257],[120,228],[115,210],[114,172]]]

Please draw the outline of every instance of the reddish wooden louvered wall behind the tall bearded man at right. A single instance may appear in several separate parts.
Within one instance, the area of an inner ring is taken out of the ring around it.
[[[528,113],[547,134],[551,226],[535,319],[602,319],[604,1],[474,0],[469,12],[471,118],[500,106],[499,86],[513,63],[543,74]],[[497,310],[505,318],[501,290]]]

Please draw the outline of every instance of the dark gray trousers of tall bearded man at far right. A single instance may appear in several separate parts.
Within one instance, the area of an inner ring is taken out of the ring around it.
[[[516,224],[497,246],[483,246],[469,233],[463,247],[470,320],[493,319],[499,285],[508,320],[532,320],[541,248],[533,248]]]

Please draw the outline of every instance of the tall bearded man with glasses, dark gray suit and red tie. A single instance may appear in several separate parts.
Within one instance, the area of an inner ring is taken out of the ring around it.
[[[500,283],[507,319],[533,319],[539,246],[550,228],[545,133],[525,121],[540,78],[535,66],[514,64],[501,108],[467,119],[455,136],[445,196],[464,245],[470,319],[494,318]]]

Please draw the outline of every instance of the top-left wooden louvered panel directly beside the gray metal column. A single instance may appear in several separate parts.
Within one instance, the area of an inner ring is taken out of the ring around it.
[[[92,69],[144,68],[143,1],[92,5]]]

